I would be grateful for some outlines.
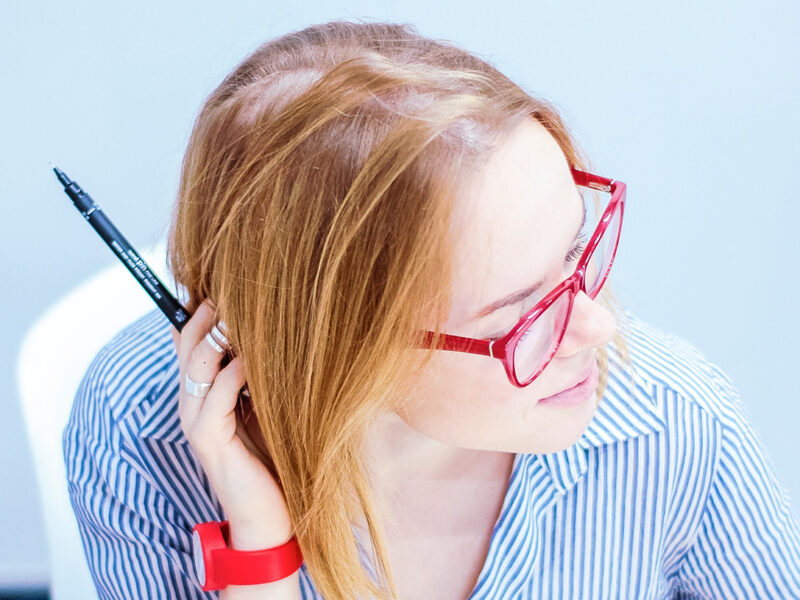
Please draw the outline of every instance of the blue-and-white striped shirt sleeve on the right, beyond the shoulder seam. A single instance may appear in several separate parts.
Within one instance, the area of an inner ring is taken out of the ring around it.
[[[719,454],[696,539],[682,560],[678,598],[800,599],[800,523],[786,488],[715,365]]]

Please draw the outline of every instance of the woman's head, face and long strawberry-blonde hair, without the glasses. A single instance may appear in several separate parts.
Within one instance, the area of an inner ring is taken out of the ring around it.
[[[388,572],[361,452],[379,416],[397,410],[434,439],[508,451],[565,447],[588,423],[587,411],[570,420],[535,407],[595,351],[605,365],[613,324],[583,294],[556,359],[528,388],[512,388],[491,359],[411,349],[423,327],[502,333],[530,304],[469,316],[566,275],[557,255],[580,216],[569,166],[591,170],[551,105],[409,25],[284,35],[206,100],[184,157],[170,265],[187,308],[212,298],[245,358],[326,598],[378,593],[352,519],[365,518]],[[491,427],[479,422],[489,412]],[[442,430],[445,418],[467,433]],[[503,427],[513,442],[494,430]]]

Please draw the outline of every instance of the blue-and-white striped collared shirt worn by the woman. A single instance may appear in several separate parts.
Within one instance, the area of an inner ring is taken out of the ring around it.
[[[581,437],[515,456],[469,599],[800,599],[797,513],[735,385],[624,314],[632,368],[609,344],[608,385]],[[180,426],[169,328],[154,310],[111,339],[63,432],[104,599],[217,597],[195,578],[192,528],[225,515]],[[304,600],[322,598],[305,564],[300,584]]]

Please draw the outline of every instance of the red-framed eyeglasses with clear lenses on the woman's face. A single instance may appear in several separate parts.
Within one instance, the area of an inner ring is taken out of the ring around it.
[[[583,250],[572,275],[553,288],[529,310],[503,337],[474,339],[457,335],[441,335],[437,350],[467,352],[496,358],[503,363],[508,380],[516,387],[525,387],[550,364],[561,344],[572,305],[578,292],[594,300],[608,278],[614,262],[625,212],[626,185],[572,168],[572,178],[584,199],[586,223],[594,222],[597,203],[587,196],[591,190],[609,193],[608,205]],[[585,238],[584,238],[585,239]],[[434,333],[421,332],[418,348],[431,347]]]

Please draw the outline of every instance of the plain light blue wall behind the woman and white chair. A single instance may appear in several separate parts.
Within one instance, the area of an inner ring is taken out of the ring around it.
[[[733,378],[798,507],[799,7],[2,3],[0,588],[47,578],[13,386],[19,342],[51,303],[116,260],[48,161],[77,179],[134,247],[149,246],[166,231],[205,96],[260,42],[333,18],[414,23],[560,108],[598,172],[628,184],[612,278],[618,297]]]

